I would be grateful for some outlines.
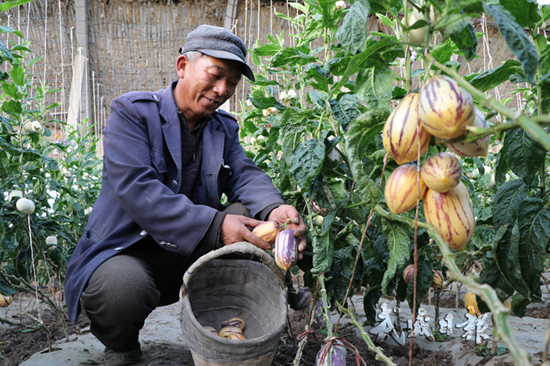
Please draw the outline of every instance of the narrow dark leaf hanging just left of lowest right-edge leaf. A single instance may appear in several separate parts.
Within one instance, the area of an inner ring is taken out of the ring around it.
[[[502,226],[501,229],[505,229]],[[519,226],[516,221],[512,230],[506,230],[502,239],[493,244],[493,252],[498,268],[508,283],[522,295],[529,297],[530,291],[523,281],[519,261]]]

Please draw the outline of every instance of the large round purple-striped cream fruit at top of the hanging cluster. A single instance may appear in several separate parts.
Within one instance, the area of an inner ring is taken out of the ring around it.
[[[430,134],[454,139],[466,134],[466,126],[474,122],[474,102],[453,79],[438,75],[420,88],[418,115]]]

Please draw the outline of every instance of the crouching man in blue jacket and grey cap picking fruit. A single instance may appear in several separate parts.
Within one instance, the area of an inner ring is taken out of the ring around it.
[[[236,120],[217,110],[241,74],[254,80],[246,52],[231,32],[200,26],[180,49],[177,81],[111,105],[102,189],[65,284],[71,321],[82,305],[107,362],[140,360],[145,319],[179,300],[183,274],[198,257],[240,241],[269,249],[250,231],[261,220],[290,220],[305,249],[298,212],[246,157]],[[222,193],[233,203],[227,208]]]

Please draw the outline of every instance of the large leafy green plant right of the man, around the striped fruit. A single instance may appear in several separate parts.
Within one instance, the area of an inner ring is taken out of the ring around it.
[[[502,300],[513,295],[514,312],[521,315],[527,304],[541,299],[539,281],[550,240],[550,45],[537,27],[550,18],[550,8],[539,9],[529,0],[501,5],[428,0],[408,6],[356,0],[349,9],[330,0],[290,5],[296,17],[277,15],[291,25],[291,44],[281,33],[252,49],[261,72],[248,96],[252,107],[241,116],[241,136],[252,141],[250,157],[270,174],[287,202],[304,213],[310,245],[298,266],[306,285],[316,288],[318,280],[326,311],[336,303],[345,305],[347,297],[366,287],[365,314],[373,323],[382,294],[407,299],[415,308],[429,290],[433,269],[448,268],[451,281],[465,283],[488,305],[516,363],[528,364],[510,332]],[[413,9],[423,16],[415,16],[409,27],[400,12],[407,18]],[[463,75],[461,63],[451,56],[466,61],[476,56],[478,34],[470,20],[483,13],[495,19],[517,60]],[[394,34],[366,32],[369,14]],[[409,32],[420,28],[424,41],[408,42]],[[412,64],[420,62],[424,68],[413,71]],[[445,151],[447,143],[491,136],[490,146],[499,146],[486,157],[460,159],[476,217],[463,252],[451,251],[426,224],[422,202],[416,210],[392,215],[381,194],[398,166],[382,145],[384,123],[413,85],[438,74],[454,79],[487,119],[498,115],[504,121],[470,126],[468,134],[450,141],[434,137],[418,154],[420,167]],[[508,80],[516,93],[523,93],[523,110],[487,94]],[[326,210],[320,226],[313,224],[316,206]],[[478,261],[484,267],[480,277],[464,276]],[[402,271],[410,263],[416,266],[415,278],[407,284]],[[328,327],[328,339],[337,328]]]

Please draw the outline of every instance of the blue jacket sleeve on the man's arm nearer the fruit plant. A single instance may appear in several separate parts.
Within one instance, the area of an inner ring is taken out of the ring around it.
[[[246,156],[238,131],[233,137],[226,163],[232,174],[227,181],[225,193],[230,202],[241,202],[248,208],[252,217],[260,218],[267,207],[282,205],[285,202],[273,186],[271,178]]]

